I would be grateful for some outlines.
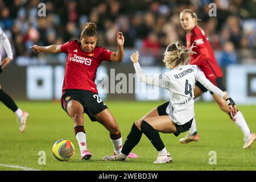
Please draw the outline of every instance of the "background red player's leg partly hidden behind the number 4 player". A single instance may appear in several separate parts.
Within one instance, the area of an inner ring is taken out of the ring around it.
[[[200,83],[197,82],[196,87],[194,89],[195,99],[197,97],[200,97],[204,92],[207,92],[207,90],[205,90],[204,88],[201,88],[201,86],[198,85],[198,84],[200,84]],[[202,91],[202,90],[204,90],[204,91]],[[188,131],[188,134],[185,135],[184,138],[181,138],[179,140],[179,142],[183,143],[183,144],[187,144],[189,142],[197,142],[199,139],[200,139],[200,135],[197,133],[197,130],[196,130],[196,119],[194,118],[193,122],[192,122],[192,125],[191,125],[191,128]]]

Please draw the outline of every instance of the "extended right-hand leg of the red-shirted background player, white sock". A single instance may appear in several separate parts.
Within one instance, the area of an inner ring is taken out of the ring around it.
[[[224,93],[227,93],[227,92],[224,92]],[[220,98],[216,94],[212,94],[212,97],[217,102],[218,106],[220,106],[220,109],[222,111],[224,111],[225,113],[229,114],[229,107],[228,107],[228,104],[226,103],[226,101],[224,101],[222,98]],[[229,114],[229,116],[230,116],[230,114]],[[234,115],[234,117],[231,119],[242,130],[243,137],[244,137],[243,140],[245,142],[245,144],[243,145],[243,148],[249,148],[251,146],[251,144],[253,144],[256,137],[255,137],[254,133],[251,133],[251,131],[245,121],[245,118],[243,117],[242,112],[238,111],[237,114]]]

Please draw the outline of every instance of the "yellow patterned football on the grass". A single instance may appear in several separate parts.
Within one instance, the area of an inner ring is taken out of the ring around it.
[[[53,144],[52,152],[57,160],[67,161],[75,155],[75,146],[69,140],[60,139]]]

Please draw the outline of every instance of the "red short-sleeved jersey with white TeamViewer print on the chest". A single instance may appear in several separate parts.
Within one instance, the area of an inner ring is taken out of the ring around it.
[[[63,91],[65,89],[81,89],[98,93],[96,72],[101,61],[109,61],[112,51],[96,46],[92,52],[84,52],[77,40],[71,40],[60,47],[61,51],[68,54]]]

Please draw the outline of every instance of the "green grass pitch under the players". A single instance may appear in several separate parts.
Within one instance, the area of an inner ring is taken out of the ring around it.
[[[134,121],[147,111],[163,102],[107,101],[109,109],[117,119],[123,142]],[[256,142],[249,150],[243,150],[243,135],[222,113],[215,103],[196,102],[197,130],[201,135],[199,142],[180,144],[179,137],[173,134],[160,134],[173,162],[153,164],[158,152],[143,135],[141,142],[133,150],[138,159],[129,162],[104,162],[102,157],[113,154],[113,146],[108,131],[97,122],[85,116],[85,131],[88,149],[93,155],[90,161],[80,160],[80,151],[73,123],[55,102],[18,102],[30,113],[25,133],[20,134],[15,114],[0,103],[0,164],[22,166],[40,170],[255,170]],[[256,132],[256,106],[238,106],[245,116],[250,129]],[[52,146],[59,139],[69,139],[75,144],[76,154],[68,162],[59,162],[52,155]],[[39,151],[46,152],[46,165],[38,164]],[[217,154],[217,164],[208,163],[210,151]],[[3,167],[0,170],[19,170]],[[22,170],[22,169],[20,169]]]

